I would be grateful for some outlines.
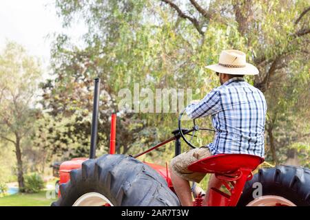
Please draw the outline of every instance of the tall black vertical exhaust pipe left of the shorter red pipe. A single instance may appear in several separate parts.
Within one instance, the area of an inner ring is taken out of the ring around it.
[[[90,133],[90,159],[94,159],[96,157],[96,142],[99,115],[99,92],[100,78],[94,78],[94,105],[92,108],[92,131]]]

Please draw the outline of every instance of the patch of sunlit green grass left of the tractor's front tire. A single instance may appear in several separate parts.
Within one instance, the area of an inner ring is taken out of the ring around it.
[[[46,190],[38,193],[17,193],[0,197],[0,206],[50,206],[56,199],[47,199]]]

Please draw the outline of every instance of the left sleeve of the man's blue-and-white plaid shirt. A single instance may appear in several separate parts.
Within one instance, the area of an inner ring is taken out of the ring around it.
[[[200,118],[220,111],[220,91],[212,90],[198,103],[189,104],[185,111],[189,118]]]

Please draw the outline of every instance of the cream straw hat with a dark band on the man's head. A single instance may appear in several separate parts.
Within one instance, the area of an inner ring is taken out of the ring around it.
[[[218,64],[206,66],[215,72],[231,75],[257,75],[258,69],[247,63],[245,53],[240,50],[223,50]]]

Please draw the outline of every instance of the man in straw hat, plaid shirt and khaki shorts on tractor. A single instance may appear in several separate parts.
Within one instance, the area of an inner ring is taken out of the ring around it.
[[[189,181],[200,182],[205,177],[204,173],[188,170],[189,164],[218,153],[264,156],[266,100],[260,90],[243,79],[244,75],[258,74],[258,69],[246,63],[245,53],[238,50],[224,50],[218,64],[207,68],[216,72],[221,85],[200,102],[189,104],[186,113],[189,118],[211,115],[216,134],[211,144],[182,153],[171,161],[172,183],[182,206],[193,204]],[[209,188],[220,185],[220,181],[211,175],[204,204]]]

